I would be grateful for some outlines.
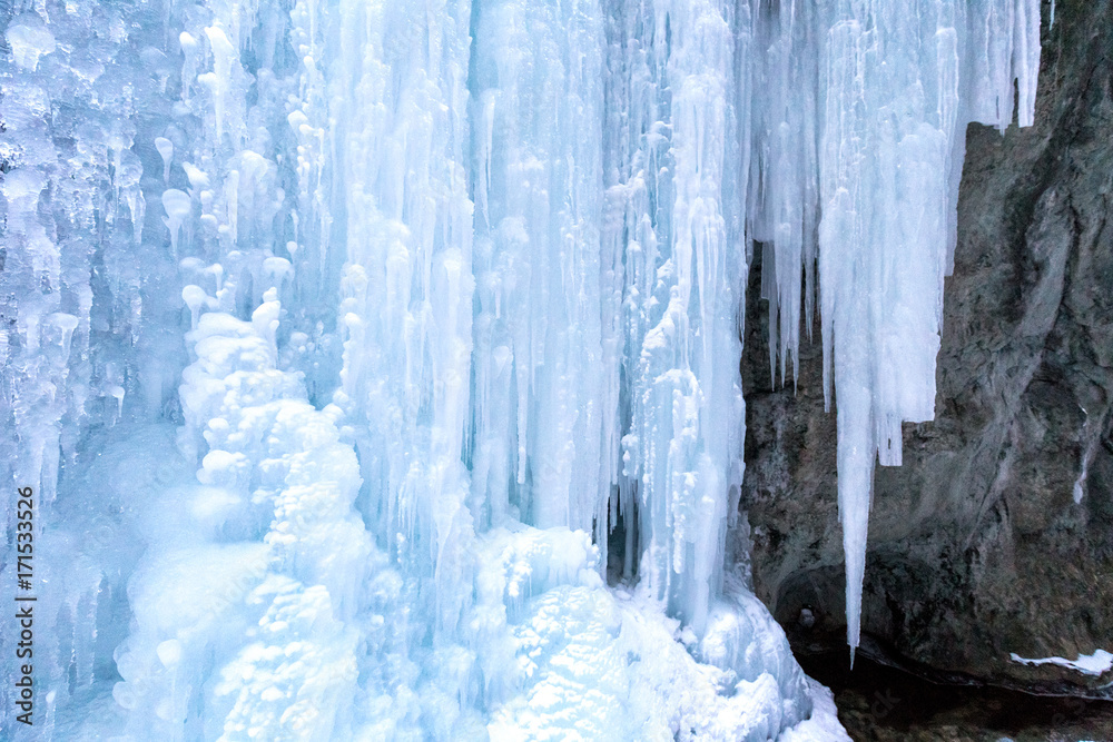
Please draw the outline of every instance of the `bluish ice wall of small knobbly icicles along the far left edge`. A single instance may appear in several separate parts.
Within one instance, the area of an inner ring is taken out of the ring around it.
[[[86,478],[88,443],[125,416],[161,415],[180,373],[155,326],[178,288],[173,264],[141,247],[149,209],[136,147],[137,102],[165,91],[169,60],[128,42],[129,17],[96,3],[0,13],[0,478],[12,497],[36,494],[33,666],[48,728],[111,663],[122,635],[109,617],[126,604],[120,573],[135,558],[117,538],[117,503]],[[158,355],[170,363],[151,364]],[[9,601],[20,594],[12,497],[0,557]],[[0,667],[14,679],[18,625],[6,613]],[[11,683],[0,704],[3,735],[14,734]]]

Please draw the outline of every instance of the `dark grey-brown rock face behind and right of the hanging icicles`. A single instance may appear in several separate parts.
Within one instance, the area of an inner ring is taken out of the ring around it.
[[[943,676],[1113,695],[1113,672],[1009,660],[1113,651],[1113,0],[1057,4],[1036,125],[967,132],[936,419],[906,425],[904,465],[875,475],[863,646]],[[754,583],[798,649],[829,647],[844,577],[819,329],[796,393],[774,387],[759,286],[755,265]]]

